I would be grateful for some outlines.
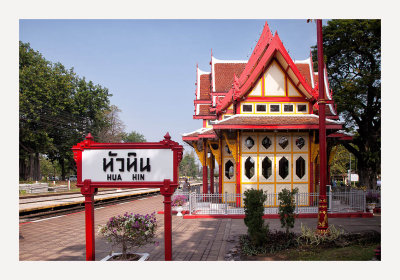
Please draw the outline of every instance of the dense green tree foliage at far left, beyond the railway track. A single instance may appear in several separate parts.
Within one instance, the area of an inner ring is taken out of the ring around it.
[[[106,125],[108,89],[78,77],[73,69],[47,61],[29,44],[19,43],[19,144],[20,177],[35,169],[40,177],[39,154],[58,161],[61,176],[74,168],[71,147]],[[28,168],[25,168],[27,165]],[[72,172],[75,173],[75,172]]]

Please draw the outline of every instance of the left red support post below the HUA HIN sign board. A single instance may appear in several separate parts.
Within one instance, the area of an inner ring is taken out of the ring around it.
[[[85,196],[85,227],[86,227],[86,260],[95,260],[95,237],[94,237],[94,190],[91,181],[83,182],[82,194]]]

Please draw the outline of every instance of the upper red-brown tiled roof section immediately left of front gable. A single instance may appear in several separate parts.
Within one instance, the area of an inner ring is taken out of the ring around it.
[[[216,63],[214,65],[215,91],[228,92],[233,84],[233,75],[240,76],[246,63]]]

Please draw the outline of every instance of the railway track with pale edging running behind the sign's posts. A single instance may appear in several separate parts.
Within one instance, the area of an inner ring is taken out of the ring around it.
[[[152,192],[146,192],[146,190],[152,190]],[[99,191],[96,195],[96,200],[94,203],[95,209],[99,207],[104,207],[107,205],[113,205],[128,201],[134,201],[137,199],[141,199],[144,197],[155,196],[159,195],[160,191],[157,190],[154,192],[154,189],[142,189],[140,193],[130,193],[126,194],[127,192],[131,192],[132,190],[106,190],[106,191]],[[125,195],[124,195],[125,193]],[[118,194],[117,197],[107,197],[110,194]],[[52,196],[36,196],[35,198],[29,197],[20,199],[20,205],[29,205],[32,203],[38,202],[57,202],[61,200],[65,200],[66,197],[68,199],[73,198],[82,198],[82,194],[80,193],[73,193],[73,194],[57,194]],[[31,222],[38,219],[43,218],[51,218],[54,216],[65,215],[70,213],[79,212],[85,209],[84,201],[78,201],[76,203],[70,204],[54,204],[54,206],[44,207],[44,208],[33,208],[33,209],[25,209],[23,211],[20,210],[19,212],[19,220],[20,223]]]

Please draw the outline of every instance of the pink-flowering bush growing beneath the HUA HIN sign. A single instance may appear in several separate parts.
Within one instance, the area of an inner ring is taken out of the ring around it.
[[[157,229],[155,212],[151,215],[128,214],[111,217],[98,232],[111,243],[112,247],[122,245],[122,259],[127,259],[127,250],[139,248],[153,241]]]

